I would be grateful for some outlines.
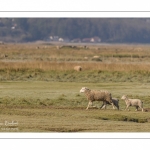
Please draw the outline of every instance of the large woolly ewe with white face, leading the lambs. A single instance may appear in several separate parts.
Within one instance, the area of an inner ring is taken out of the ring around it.
[[[90,90],[87,87],[82,87],[80,90],[80,93],[85,93],[87,100],[89,100],[86,110],[90,106],[93,106],[93,101],[103,101],[105,105],[106,105],[106,102],[109,102],[110,104],[112,104],[113,109],[115,109],[114,104],[112,102],[111,93],[109,93],[106,90]],[[105,106],[105,109],[106,109],[106,106]]]

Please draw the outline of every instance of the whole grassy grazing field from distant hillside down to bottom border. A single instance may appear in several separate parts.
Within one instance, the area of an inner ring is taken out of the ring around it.
[[[0,45],[0,132],[149,132],[149,68],[150,45]],[[85,110],[83,86],[109,90],[120,110]],[[125,111],[124,94],[144,112]]]

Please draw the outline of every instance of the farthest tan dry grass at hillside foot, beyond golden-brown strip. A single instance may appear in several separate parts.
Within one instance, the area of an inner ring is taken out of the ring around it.
[[[75,47],[63,46],[57,49],[57,45],[49,44],[6,44],[0,45],[1,58],[6,55],[10,59],[89,59],[95,55],[110,58],[129,57],[129,60],[134,58],[149,58],[150,45],[89,45],[88,48],[76,45]],[[104,58],[105,59],[105,58]]]

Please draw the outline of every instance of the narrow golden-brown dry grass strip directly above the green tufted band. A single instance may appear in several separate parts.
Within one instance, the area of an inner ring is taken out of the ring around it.
[[[49,62],[49,61],[29,61],[29,62],[0,62],[0,70],[28,70],[39,69],[41,71],[73,70],[74,66],[80,65],[83,70],[98,71],[150,71],[150,64],[127,64],[127,63],[96,63],[96,62]]]

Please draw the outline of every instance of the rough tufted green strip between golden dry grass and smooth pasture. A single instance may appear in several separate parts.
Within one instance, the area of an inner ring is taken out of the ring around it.
[[[27,69],[0,71],[0,81],[53,81],[53,82],[150,82],[149,71],[102,71]]]

